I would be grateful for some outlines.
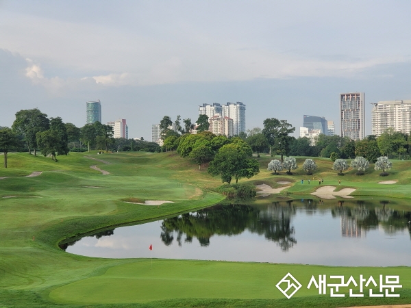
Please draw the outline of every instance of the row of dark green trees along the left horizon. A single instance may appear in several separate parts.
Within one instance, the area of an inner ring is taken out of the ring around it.
[[[144,140],[114,138],[113,127],[100,122],[76,127],[64,123],[60,116],[48,118],[37,108],[20,110],[12,127],[0,127],[0,150],[7,168],[8,152],[26,149],[29,154],[50,155],[57,162],[57,155],[67,155],[69,151],[90,151],[103,149],[116,151],[160,151],[160,146]]]

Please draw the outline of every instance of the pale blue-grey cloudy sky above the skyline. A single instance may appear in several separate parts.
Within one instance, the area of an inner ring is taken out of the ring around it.
[[[411,99],[411,1],[0,0],[0,126],[37,107],[82,127],[125,118],[151,140],[163,116],[240,101],[266,118],[334,120],[338,94]]]

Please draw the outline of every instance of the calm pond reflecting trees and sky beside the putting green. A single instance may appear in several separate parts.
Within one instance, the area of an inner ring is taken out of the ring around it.
[[[215,205],[61,244],[105,258],[167,258],[327,266],[411,266],[411,212],[388,201]],[[150,244],[153,250],[149,251]]]

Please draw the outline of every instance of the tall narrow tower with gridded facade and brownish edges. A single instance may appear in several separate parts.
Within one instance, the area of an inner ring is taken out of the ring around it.
[[[365,137],[364,92],[340,94],[340,136],[352,140]]]

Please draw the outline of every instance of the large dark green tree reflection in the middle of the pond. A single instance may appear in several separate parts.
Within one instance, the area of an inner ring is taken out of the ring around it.
[[[297,243],[290,227],[290,218],[295,214],[291,203],[288,207],[273,205],[267,211],[247,205],[218,205],[209,209],[201,209],[197,213],[183,214],[162,222],[160,238],[164,244],[170,245],[177,233],[177,243],[192,242],[197,238],[201,246],[208,246],[212,235],[237,235],[249,229],[252,233],[264,235],[267,240],[279,243],[283,251]]]

